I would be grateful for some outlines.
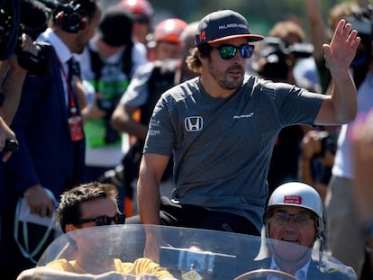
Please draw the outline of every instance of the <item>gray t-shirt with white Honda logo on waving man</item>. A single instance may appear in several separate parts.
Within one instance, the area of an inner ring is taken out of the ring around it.
[[[312,125],[323,99],[252,76],[233,95],[214,98],[196,77],[161,96],[144,152],[173,155],[176,201],[244,216],[260,230],[277,134]]]

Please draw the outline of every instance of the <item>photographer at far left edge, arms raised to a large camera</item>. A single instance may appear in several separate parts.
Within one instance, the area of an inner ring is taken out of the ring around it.
[[[7,161],[11,157],[12,151],[17,148],[14,131],[9,128],[9,125],[12,123],[17,110],[23,81],[28,70],[27,65],[23,61],[25,57],[36,57],[38,54],[32,38],[24,32],[25,23],[32,22],[27,20],[27,16],[24,14],[27,14],[28,11],[24,10],[31,10],[33,5],[31,1],[26,0],[1,1],[0,82],[2,86],[0,88],[0,153],[3,151],[1,156],[3,162]],[[32,24],[39,24],[43,18],[41,14],[36,15],[38,15],[39,21],[34,20]],[[35,25],[31,26],[35,27]],[[38,28],[40,27],[38,26]],[[20,57],[23,57],[23,59],[20,59]],[[10,144],[14,146],[11,147]]]

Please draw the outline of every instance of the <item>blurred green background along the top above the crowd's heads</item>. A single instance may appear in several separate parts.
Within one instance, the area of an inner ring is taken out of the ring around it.
[[[250,31],[267,35],[278,21],[291,19],[309,32],[309,23],[305,11],[305,0],[149,0],[155,10],[153,26],[160,21],[177,17],[186,22],[199,21],[205,14],[215,10],[232,9],[246,16]],[[333,5],[356,0],[323,0],[323,18]],[[101,0],[103,8],[116,5],[118,0]],[[307,40],[308,41],[308,40]]]

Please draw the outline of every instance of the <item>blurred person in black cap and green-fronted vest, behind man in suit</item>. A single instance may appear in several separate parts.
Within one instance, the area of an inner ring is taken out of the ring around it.
[[[120,32],[115,32],[118,26]],[[82,112],[86,121],[86,182],[91,182],[119,165],[129,146],[128,135],[114,131],[110,119],[134,71],[147,62],[145,47],[132,41],[132,15],[124,8],[108,8],[96,37],[78,59],[83,80],[96,92],[87,95],[89,104]]]

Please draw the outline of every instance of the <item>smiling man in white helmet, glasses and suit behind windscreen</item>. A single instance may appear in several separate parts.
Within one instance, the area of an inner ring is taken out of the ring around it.
[[[265,224],[269,239],[292,244],[271,242],[272,257],[259,261],[261,264],[268,262],[271,269],[297,279],[356,279],[350,266],[332,257],[327,261],[312,259],[315,241],[323,245],[324,230],[323,201],[312,186],[298,182],[279,185],[269,198]]]

